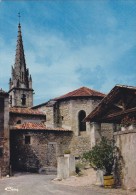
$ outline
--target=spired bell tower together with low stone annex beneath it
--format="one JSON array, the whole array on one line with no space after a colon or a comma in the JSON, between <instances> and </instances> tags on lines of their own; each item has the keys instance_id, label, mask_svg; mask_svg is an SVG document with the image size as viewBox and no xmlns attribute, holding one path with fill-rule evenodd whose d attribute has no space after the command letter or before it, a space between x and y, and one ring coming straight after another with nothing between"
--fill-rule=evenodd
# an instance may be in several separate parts
<instances>
[{"instance_id":1,"label":"spired bell tower together with low stone annex beneath it","mask_svg":"<svg viewBox=\"0 0 136 195\"><path fill-rule=\"evenodd\" d=\"M46 115L32 109L32 77L26 67L21 25L18 25L15 64L9 83L10 164L17 171L55 166L68 148L72 132L45 125Z\"/></svg>"}]
</instances>

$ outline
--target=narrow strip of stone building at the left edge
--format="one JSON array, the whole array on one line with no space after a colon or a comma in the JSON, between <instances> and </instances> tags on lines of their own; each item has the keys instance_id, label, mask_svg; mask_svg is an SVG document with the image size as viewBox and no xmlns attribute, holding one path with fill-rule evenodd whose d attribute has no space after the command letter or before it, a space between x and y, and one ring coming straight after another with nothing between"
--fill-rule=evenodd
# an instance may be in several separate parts
<instances>
[{"instance_id":1,"label":"narrow strip of stone building at the left edge","mask_svg":"<svg viewBox=\"0 0 136 195\"><path fill-rule=\"evenodd\" d=\"M9 95L0 90L0 177L9 174Z\"/></svg>"}]
</instances>

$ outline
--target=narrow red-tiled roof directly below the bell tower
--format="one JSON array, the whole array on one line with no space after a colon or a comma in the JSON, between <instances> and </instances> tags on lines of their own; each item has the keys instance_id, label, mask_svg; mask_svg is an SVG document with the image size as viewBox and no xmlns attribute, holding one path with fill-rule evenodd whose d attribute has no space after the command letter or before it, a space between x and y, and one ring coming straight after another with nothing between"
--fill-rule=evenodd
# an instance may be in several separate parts
<instances>
[{"instance_id":1,"label":"narrow red-tiled roof directly below the bell tower","mask_svg":"<svg viewBox=\"0 0 136 195\"><path fill-rule=\"evenodd\" d=\"M38 110L33 110L31 108L17 108L17 107L10 108L10 113L30 114L30 115L45 115L43 112L40 112Z\"/></svg>"}]
</instances>

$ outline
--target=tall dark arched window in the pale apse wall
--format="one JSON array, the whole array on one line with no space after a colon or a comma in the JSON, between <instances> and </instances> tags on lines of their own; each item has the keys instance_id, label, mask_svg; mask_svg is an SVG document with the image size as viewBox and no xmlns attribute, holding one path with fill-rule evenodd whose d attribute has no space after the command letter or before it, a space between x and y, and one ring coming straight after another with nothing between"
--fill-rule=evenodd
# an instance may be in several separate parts
<instances>
[{"instance_id":1,"label":"tall dark arched window in the pale apse wall","mask_svg":"<svg viewBox=\"0 0 136 195\"><path fill-rule=\"evenodd\" d=\"M85 111L80 110L80 112L78 113L79 131L86 131L86 123L83 122L85 117L86 117Z\"/></svg>"}]
</instances>

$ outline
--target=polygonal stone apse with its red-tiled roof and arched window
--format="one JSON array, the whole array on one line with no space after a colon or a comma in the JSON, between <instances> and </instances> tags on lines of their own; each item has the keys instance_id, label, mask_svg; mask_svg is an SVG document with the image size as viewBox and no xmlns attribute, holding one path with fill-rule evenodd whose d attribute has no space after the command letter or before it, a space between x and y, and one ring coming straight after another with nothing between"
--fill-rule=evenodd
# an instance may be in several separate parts
<instances>
[{"instance_id":1,"label":"polygonal stone apse with its red-tiled roof and arched window","mask_svg":"<svg viewBox=\"0 0 136 195\"><path fill-rule=\"evenodd\" d=\"M104 94L81 87L49 102L37 105L33 109L46 115L46 125L69 129L73 137L68 149L79 156L92 147L92 126L83 119L93 110L104 97Z\"/></svg>"}]
</instances>

